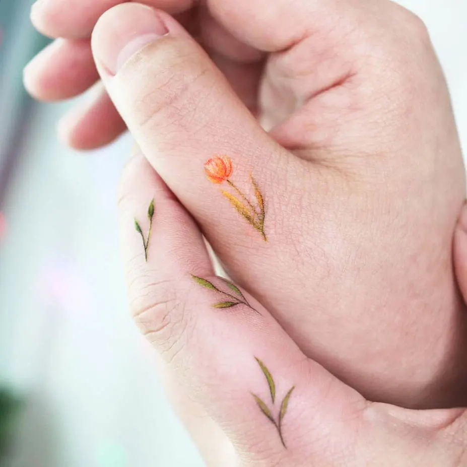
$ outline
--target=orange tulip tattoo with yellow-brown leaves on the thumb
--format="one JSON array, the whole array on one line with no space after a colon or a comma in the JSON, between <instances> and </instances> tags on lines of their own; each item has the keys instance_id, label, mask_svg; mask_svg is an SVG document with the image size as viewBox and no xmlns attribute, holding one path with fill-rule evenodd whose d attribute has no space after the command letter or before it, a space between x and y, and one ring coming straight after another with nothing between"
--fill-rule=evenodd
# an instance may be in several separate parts
<instances>
[{"instance_id":1,"label":"orange tulip tattoo with yellow-brown leaves on the thumb","mask_svg":"<svg viewBox=\"0 0 467 467\"><path fill-rule=\"evenodd\" d=\"M244 194L231 180L230 176L233 172L232 160L227 156L215 156L209 159L205 164L205 171L208 179L213 183L220 184L227 182L231 188L234 189L235 196L229 191L222 190L222 194L229 200L237 212L245 218L258 232L260 232L264 241L267 241L266 234L264 233L264 198L259 191L258 185L250 174L251 184L253 185L254 195L256 197L257 206L250 201L248 196Z\"/></svg>"}]
</instances>

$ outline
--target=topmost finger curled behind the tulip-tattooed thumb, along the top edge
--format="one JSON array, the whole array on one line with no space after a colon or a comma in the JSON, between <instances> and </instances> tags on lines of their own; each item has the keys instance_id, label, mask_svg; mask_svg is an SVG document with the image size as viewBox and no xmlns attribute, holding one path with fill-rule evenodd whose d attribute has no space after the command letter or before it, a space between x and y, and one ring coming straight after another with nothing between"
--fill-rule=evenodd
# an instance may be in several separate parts
<instances>
[{"instance_id":1,"label":"topmost finger curled behind the tulip-tattooed thumb, along the top edge","mask_svg":"<svg viewBox=\"0 0 467 467\"><path fill-rule=\"evenodd\" d=\"M48 36L85 38L90 37L102 14L122 3L125 0L38 0L33 5L31 20ZM197 6L199 0L139 3L177 15ZM285 50L314 32L320 32L320 36L345 36L352 28L351 22L342 21L350 11L348 2L343 0L207 0L206 3L215 20L237 39L264 52ZM381 3L389 2L381 0Z\"/></svg>"}]
</instances>

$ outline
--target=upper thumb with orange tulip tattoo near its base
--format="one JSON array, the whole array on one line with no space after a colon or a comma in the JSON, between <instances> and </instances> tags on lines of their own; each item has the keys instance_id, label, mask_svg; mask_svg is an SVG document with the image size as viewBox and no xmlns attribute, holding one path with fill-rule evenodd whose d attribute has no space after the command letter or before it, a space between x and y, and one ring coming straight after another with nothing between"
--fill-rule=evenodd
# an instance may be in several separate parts
<instances>
[{"instance_id":1,"label":"upper thumb with orange tulip tattoo near its base","mask_svg":"<svg viewBox=\"0 0 467 467\"><path fill-rule=\"evenodd\" d=\"M265 243L257 245L261 238L274 240L272 214L281 199L292 203L291 187L300 186L305 161L266 134L202 47L169 15L134 3L115 7L100 18L92 47L132 136L216 251L229 254L232 244L241 239L248 245L249 238L255 251L264 251ZM232 160L225 176L208 180L205 166L215 155ZM258 192L261 203L254 201ZM302 197L300 190L293 202Z\"/></svg>"}]
</instances>

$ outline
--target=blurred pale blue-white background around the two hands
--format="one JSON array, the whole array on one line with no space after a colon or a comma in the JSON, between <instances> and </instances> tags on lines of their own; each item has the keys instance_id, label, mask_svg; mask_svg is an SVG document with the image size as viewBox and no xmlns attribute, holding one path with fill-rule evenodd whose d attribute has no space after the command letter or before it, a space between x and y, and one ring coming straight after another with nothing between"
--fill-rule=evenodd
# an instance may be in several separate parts
<instances>
[{"instance_id":1,"label":"blurred pale blue-white background around the two hands","mask_svg":"<svg viewBox=\"0 0 467 467\"><path fill-rule=\"evenodd\" d=\"M22 68L47 44L32 0L0 0L0 465L197 467L132 324L116 184L131 143L78 154ZM404 0L428 25L467 147L467 3ZM86 98L86 96L84 97Z\"/></svg>"}]
</instances>

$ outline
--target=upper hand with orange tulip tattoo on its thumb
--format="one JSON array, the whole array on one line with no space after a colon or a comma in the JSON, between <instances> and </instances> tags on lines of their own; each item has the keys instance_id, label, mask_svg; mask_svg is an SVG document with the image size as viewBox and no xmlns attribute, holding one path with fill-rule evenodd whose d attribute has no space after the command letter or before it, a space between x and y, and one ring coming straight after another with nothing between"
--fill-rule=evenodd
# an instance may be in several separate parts
<instances>
[{"instance_id":1,"label":"upper hand with orange tulip tattoo on its thumb","mask_svg":"<svg viewBox=\"0 0 467 467\"><path fill-rule=\"evenodd\" d=\"M41 29L68 37L26 72L34 94L66 97L97 78L89 39L70 37L89 37L114 3L47 0L34 10ZM180 14L210 56L166 13L126 3L97 24L94 58L232 279L367 398L462 404L466 323L451 242L464 168L419 19L383 0L151 4ZM81 132L96 146L121 130L106 99L68 123L70 142Z\"/></svg>"}]
</instances>

